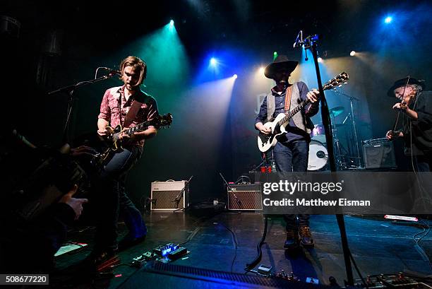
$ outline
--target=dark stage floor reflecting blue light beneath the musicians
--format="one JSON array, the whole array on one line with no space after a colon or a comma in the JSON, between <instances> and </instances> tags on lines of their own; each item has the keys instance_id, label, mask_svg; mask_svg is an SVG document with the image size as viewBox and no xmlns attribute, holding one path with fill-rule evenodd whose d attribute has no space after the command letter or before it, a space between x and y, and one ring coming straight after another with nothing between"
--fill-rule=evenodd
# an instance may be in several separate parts
<instances>
[{"instance_id":1,"label":"dark stage floor reflecting blue light beneath the musicians","mask_svg":"<svg viewBox=\"0 0 432 289\"><path fill-rule=\"evenodd\" d=\"M145 269L145 263L142 268L129 265L133 257L151 251L159 245L187 241L184 247L191 253L172 264L244 275L246 264L256 257L256 246L263 235L264 228L263 215L255 212L224 211L197 216L193 211L186 213L152 211L144 218L148 225L148 237L145 242L119 252L121 264L114 267L113 275L103 275L104 278L99 276L97 281L92 281L93 285L102 282L101 286L107 288L173 288L174 285L176 288L203 288L203 285L205 288L221 288L227 285L227 281L217 281L217 278L209 281L208 278L201 278L198 273L195 273L194 278L180 278L176 273L149 272ZM373 274L400 271L406 274L409 272L431 274L430 264L424 261L414 243L414 235L423 232L424 228L428 230L423 227L427 220L421 224L389 221L383 216L345 216L344 218L349 248L364 278ZM119 223L121 234L125 234L125 230L124 224ZM329 285L329 278L332 276L339 285L343 286L344 279L347 277L335 216L311 216L311 230L316 243L314 249L301 248L293 252L286 251L283 249L285 233L282 217L270 216L268 235L262 247L263 258L259 264L272 266L272 271L275 273L282 270L287 273L293 272L301 282L306 281L306 278L316 278L321 285ZM94 229L91 227L74 228L69 232L70 242L85 242L90 246L56 257L56 268L63 271L60 274L62 280L68 280L67 277L71 276L64 272L67 272L68 268L73 268L74 264L78 264L90 252L93 234ZM416 236L416 240L419 237L421 234ZM419 245L427 255L431 254L430 236L424 237ZM253 275L248 273L247 276ZM88 280L80 283L79 277L73 277L73 281L77 282L76 285L90 284ZM354 278L359 279L355 272ZM56 276L51 276L51 280L59 282ZM52 283L54 284L60 285ZM231 283L231 285L246 286L241 283ZM250 286L253 288L253 285Z\"/></svg>"}]
</instances>

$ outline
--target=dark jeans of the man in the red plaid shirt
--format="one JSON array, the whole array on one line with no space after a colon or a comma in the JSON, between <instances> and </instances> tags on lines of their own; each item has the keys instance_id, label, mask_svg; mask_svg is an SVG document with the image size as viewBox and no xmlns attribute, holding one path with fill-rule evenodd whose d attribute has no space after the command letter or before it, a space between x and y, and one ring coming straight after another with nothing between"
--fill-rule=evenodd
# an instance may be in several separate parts
<instances>
[{"instance_id":1,"label":"dark jeans of the man in the red plaid shirt","mask_svg":"<svg viewBox=\"0 0 432 289\"><path fill-rule=\"evenodd\" d=\"M119 214L131 237L147 234L140 211L126 194L126 176L140 159L143 148L133 146L116 153L105 165L97 185L98 224L95 247L114 249L117 246L117 222Z\"/></svg>"}]
</instances>

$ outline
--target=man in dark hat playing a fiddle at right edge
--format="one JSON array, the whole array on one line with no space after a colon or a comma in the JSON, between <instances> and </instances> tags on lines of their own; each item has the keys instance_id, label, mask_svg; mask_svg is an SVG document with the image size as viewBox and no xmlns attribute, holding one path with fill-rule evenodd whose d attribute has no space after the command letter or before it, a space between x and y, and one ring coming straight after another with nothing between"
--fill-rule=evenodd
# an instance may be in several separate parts
<instances>
[{"instance_id":1,"label":"man in dark hat playing a fiddle at right edge","mask_svg":"<svg viewBox=\"0 0 432 289\"><path fill-rule=\"evenodd\" d=\"M393 110L403 112L402 129L388 131L388 139L404 138L405 155L411 155L412 168L418 172L432 169L432 92L424 91L424 81L402 78L388 90L388 96L400 100Z\"/></svg>"}]
</instances>

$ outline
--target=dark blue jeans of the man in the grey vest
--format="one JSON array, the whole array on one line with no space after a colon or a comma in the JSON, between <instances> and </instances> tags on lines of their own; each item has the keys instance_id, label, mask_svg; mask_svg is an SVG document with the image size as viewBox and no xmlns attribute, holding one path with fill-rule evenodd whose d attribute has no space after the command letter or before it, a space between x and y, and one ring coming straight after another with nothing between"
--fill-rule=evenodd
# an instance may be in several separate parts
<instances>
[{"instance_id":1,"label":"dark blue jeans of the man in the grey vest","mask_svg":"<svg viewBox=\"0 0 432 289\"><path fill-rule=\"evenodd\" d=\"M306 172L308 170L309 143L306 140L276 143L273 158L277 172ZM284 215L287 230L309 226L309 215Z\"/></svg>"}]
</instances>

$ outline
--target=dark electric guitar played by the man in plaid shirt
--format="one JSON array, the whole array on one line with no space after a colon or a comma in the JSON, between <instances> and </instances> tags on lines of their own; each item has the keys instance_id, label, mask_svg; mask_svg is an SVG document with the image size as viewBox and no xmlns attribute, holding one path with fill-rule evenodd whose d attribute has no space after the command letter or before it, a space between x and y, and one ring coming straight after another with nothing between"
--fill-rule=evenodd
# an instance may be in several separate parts
<instances>
[{"instance_id":1,"label":"dark electric guitar played by the man in plaid shirt","mask_svg":"<svg viewBox=\"0 0 432 289\"><path fill-rule=\"evenodd\" d=\"M100 158L105 160L107 159L108 155L123 151L121 139L119 138L121 134L131 135L136 131L144 131L148 128L148 126L155 126L157 129L162 129L166 126L170 126L171 124L172 114L168 113L164 115L157 115L157 117L154 119L150 119L147 122L142 122L136 126L132 126L125 131L122 131L123 128L121 127L121 124L118 124L114 129L111 126L107 126L108 134L107 136L104 136L104 141L107 144L108 149L104 153L101 153Z\"/></svg>"}]
</instances>

